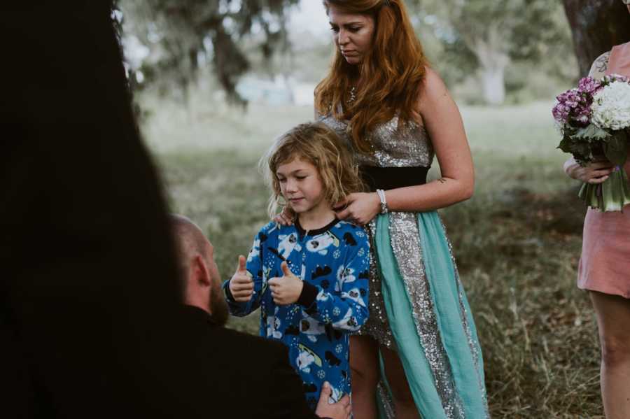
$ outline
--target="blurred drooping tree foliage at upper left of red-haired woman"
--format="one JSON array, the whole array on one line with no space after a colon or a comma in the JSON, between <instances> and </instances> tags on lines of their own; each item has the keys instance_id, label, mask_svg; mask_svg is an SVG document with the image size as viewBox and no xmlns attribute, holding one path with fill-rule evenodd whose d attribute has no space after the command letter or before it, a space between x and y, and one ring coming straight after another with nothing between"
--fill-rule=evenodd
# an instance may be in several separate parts
<instances>
[{"instance_id":1,"label":"blurred drooping tree foliage at upper left of red-haired woman","mask_svg":"<svg viewBox=\"0 0 630 419\"><path fill-rule=\"evenodd\" d=\"M299 0L118 0L127 40L148 48L139 67L149 83L174 80L186 94L200 67L213 66L235 103L237 80L250 67L241 41L250 36L267 59L288 48L286 13Z\"/></svg>"}]
</instances>

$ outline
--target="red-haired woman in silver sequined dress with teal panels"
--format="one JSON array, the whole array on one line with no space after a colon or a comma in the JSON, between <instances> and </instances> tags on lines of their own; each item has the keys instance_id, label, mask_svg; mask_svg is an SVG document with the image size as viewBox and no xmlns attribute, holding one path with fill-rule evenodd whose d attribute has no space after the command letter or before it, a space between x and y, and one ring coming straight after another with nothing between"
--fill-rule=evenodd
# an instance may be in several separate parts
<instances>
[{"instance_id":1,"label":"red-haired woman in silver sequined dress with teal panels","mask_svg":"<svg viewBox=\"0 0 630 419\"><path fill-rule=\"evenodd\" d=\"M370 318L351 338L354 416L487 418L475 322L435 212L472 195L461 115L402 0L323 3L335 58L316 114L349 143L371 190L337 207L373 245ZM441 177L427 183L434 155Z\"/></svg>"}]
</instances>

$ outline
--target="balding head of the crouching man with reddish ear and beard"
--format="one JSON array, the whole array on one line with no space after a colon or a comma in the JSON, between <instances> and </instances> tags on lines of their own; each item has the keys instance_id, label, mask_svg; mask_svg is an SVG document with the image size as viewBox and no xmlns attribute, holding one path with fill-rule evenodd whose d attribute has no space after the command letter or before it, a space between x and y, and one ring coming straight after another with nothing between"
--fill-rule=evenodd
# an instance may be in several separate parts
<instances>
[{"instance_id":1,"label":"balding head of the crouching man with reddish ear and beard","mask_svg":"<svg viewBox=\"0 0 630 419\"><path fill-rule=\"evenodd\" d=\"M210 313L214 322L225 325L228 305L221 290L214 248L201 229L182 215L171 215L179 248L183 302Z\"/></svg>"}]
</instances>

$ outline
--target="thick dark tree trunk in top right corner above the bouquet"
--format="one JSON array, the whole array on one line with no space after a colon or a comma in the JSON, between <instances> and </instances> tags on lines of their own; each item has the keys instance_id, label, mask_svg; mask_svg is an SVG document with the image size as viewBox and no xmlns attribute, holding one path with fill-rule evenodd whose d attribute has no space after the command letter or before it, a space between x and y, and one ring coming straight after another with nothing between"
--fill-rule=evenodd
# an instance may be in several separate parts
<instances>
[{"instance_id":1,"label":"thick dark tree trunk in top right corner above the bouquet","mask_svg":"<svg viewBox=\"0 0 630 419\"><path fill-rule=\"evenodd\" d=\"M580 75L586 76L594 59L630 41L630 13L619 0L562 0L573 33Z\"/></svg>"}]
</instances>

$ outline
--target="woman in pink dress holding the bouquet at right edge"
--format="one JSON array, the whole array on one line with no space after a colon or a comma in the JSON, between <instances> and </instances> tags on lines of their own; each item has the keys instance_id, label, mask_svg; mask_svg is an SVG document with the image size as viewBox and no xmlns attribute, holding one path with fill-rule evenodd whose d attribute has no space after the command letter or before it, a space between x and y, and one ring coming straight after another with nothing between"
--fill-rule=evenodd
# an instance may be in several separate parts
<instances>
[{"instance_id":1,"label":"woman in pink dress holding the bouquet at right edge","mask_svg":"<svg viewBox=\"0 0 630 419\"><path fill-rule=\"evenodd\" d=\"M630 11L630 0L622 0ZM595 60L589 76L630 76L630 42ZM607 160L564 164L571 178L601 184L615 170ZM622 168L630 173L630 159ZM624 211L589 208L584 220L577 286L589 290L601 343L601 392L606 418L630 418L630 206Z\"/></svg>"}]
</instances>

